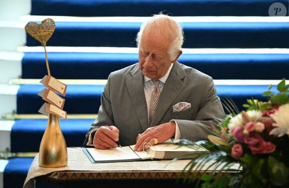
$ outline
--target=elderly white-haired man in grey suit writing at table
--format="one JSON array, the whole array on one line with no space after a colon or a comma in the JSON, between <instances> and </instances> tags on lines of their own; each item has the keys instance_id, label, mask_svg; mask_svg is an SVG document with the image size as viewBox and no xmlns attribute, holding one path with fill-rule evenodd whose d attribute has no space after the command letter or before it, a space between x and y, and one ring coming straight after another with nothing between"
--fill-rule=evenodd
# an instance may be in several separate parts
<instances>
[{"instance_id":1,"label":"elderly white-haired man in grey suit writing at table","mask_svg":"<svg viewBox=\"0 0 289 188\"><path fill-rule=\"evenodd\" d=\"M139 63L110 74L85 147L136 144L142 151L169 138L205 140L224 110L213 79L177 59L183 31L172 17L153 15L137 35ZM138 137L138 139L137 139Z\"/></svg>"}]
</instances>

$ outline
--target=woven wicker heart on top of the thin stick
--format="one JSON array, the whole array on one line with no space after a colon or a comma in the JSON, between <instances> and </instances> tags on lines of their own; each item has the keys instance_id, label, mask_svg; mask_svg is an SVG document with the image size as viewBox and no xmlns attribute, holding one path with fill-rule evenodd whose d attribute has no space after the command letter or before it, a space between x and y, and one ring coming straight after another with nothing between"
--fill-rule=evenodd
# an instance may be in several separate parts
<instances>
[{"instance_id":1,"label":"woven wicker heart on top of the thin stick","mask_svg":"<svg viewBox=\"0 0 289 188\"><path fill-rule=\"evenodd\" d=\"M53 19L47 18L41 21L40 24L36 22L28 22L25 25L25 31L41 42L42 46L46 46L46 42L52 36L55 30L55 22Z\"/></svg>"}]
</instances>

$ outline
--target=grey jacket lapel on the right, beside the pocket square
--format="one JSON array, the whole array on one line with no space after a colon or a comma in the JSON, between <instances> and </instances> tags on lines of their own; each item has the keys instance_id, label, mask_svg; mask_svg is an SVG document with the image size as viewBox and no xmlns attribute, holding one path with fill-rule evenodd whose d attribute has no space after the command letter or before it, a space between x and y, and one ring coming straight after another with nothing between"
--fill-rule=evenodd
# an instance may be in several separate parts
<instances>
[{"instance_id":1,"label":"grey jacket lapel on the right, beside the pocket square","mask_svg":"<svg viewBox=\"0 0 289 188\"><path fill-rule=\"evenodd\" d=\"M166 80L163 90L158 99L158 105L155 108L155 114L151 122L151 126L158 125L163 115L171 106L176 96L184 89L182 79L186 76L180 64L176 62Z\"/></svg>"}]
</instances>

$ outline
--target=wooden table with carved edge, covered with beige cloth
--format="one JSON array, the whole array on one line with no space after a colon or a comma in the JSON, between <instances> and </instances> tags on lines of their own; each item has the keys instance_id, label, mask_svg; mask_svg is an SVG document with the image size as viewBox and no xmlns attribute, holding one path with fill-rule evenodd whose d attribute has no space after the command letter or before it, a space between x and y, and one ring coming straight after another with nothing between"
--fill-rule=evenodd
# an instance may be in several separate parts
<instances>
[{"instance_id":1,"label":"wooden table with carved edge, covered with beige cloth","mask_svg":"<svg viewBox=\"0 0 289 188\"><path fill-rule=\"evenodd\" d=\"M67 148L68 165L61 168L38 166L38 155L29 169L24 188L36 181L64 188L192 188L180 180L190 160L148 160L137 162L91 163L82 148Z\"/></svg>"}]
</instances>

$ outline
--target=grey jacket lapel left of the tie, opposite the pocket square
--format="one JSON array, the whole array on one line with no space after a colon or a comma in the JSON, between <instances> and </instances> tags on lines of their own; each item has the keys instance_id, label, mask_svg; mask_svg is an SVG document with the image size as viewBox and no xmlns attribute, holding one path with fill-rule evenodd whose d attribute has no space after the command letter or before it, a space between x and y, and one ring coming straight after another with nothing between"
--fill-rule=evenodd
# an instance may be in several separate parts
<instances>
[{"instance_id":1,"label":"grey jacket lapel left of the tie, opposite the pocket square","mask_svg":"<svg viewBox=\"0 0 289 188\"><path fill-rule=\"evenodd\" d=\"M131 96L133 106L137 112L138 119L143 128L143 131L147 128L147 107L144 96L144 82L143 73L139 71L138 67L136 70L131 71L132 77L127 80L128 92Z\"/></svg>"}]
</instances>

